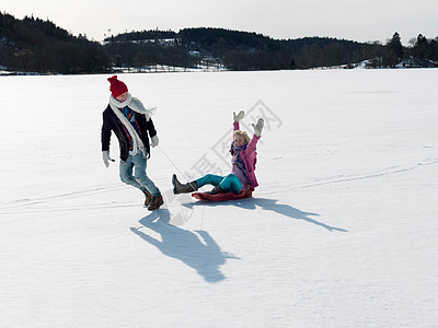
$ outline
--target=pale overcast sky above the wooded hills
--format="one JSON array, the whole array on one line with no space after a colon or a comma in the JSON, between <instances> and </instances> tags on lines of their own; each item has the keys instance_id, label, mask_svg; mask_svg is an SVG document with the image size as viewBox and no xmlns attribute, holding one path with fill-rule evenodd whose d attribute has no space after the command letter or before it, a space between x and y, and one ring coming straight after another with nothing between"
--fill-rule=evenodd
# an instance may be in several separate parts
<instances>
[{"instance_id":1,"label":"pale overcast sky above the wooded hills","mask_svg":"<svg viewBox=\"0 0 438 328\"><path fill-rule=\"evenodd\" d=\"M131 31L200 26L273 38L328 36L382 43L399 32L404 45L419 33L438 36L437 0L2 0L0 10L16 19L48 19L95 40Z\"/></svg>"}]
</instances>

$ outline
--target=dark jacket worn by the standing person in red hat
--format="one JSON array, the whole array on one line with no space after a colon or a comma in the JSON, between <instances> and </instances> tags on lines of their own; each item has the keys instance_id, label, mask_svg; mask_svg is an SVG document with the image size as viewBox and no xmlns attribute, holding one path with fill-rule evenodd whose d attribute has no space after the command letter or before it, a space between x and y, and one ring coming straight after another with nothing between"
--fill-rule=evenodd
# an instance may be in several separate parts
<instances>
[{"instance_id":1,"label":"dark jacket worn by the standing person in red hat","mask_svg":"<svg viewBox=\"0 0 438 328\"><path fill-rule=\"evenodd\" d=\"M157 134L155 127L153 126L152 119L147 120L143 114L136 113L136 121L140 127L139 137L145 144L146 150L148 151L148 157L150 156L150 145L149 145L149 137L152 138ZM102 151L110 151L110 141L112 131L116 134L118 139L118 144L120 148L120 160L126 161L129 155L129 140L128 136L126 136L125 130L123 129L123 124L113 112L111 106L108 105L106 109L103 112L103 125L101 131L101 142L102 142ZM149 133L149 137L148 137Z\"/></svg>"}]
</instances>

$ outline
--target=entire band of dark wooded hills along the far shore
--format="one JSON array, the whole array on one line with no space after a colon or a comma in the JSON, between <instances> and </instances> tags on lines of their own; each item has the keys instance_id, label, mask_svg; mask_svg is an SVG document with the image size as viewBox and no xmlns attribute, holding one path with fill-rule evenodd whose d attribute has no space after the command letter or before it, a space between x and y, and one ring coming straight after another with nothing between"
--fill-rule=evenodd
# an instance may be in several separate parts
<instances>
[{"instance_id":1,"label":"entire band of dark wooded hills along the far shore","mask_svg":"<svg viewBox=\"0 0 438 328\"><path fill-rule=\"evenodd\" d=\"M97 73L157 65L229 70L290 70L345 66L369 60L370 68L437 67L438 37L422 34L403 47L399 33L387 44L328 37L273 39L224 28L141 31L108 36L103 43L71 35L46 20L16 20L0 13L0 66L38 73Z\"/></svg>"}]
</instances>

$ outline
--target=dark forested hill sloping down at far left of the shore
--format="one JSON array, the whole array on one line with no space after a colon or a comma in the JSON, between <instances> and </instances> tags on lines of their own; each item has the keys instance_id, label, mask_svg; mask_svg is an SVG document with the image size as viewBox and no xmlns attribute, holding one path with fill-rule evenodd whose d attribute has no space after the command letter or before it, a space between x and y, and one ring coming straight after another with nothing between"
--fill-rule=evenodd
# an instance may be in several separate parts
<instances>
[{"instance_id":1,"label":"dark forested hill sloping down at far left of the shore","mask_svg":"<svg viewBox=\"0 0 438 328\"><path fill-rule=\"evenodd\" d=\"M74 37L50 21L0 13L0 66L39 73L94 73L111 67L101 44Z\"/></svg>"}]
</instances>

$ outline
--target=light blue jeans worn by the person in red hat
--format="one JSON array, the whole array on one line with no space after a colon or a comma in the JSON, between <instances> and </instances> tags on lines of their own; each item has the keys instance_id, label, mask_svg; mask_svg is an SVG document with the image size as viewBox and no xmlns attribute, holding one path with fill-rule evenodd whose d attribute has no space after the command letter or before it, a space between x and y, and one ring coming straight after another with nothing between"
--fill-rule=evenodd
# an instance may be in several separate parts
<instances>
[{"instance_id":1,"label":"light blue jeans worn by the person in red hat","mask_svg":"<svg viewBox=\"0 0 438 328\"><path fill-rule=\"evenodd\" d=\"M141 191L148 190L152 196L159 196L160 190L153 181L146 175L147 160L141 152L136 155L129 155L126 162L120 160L120 179L125 184L140 189ZM134 176L132 176L132 169Z\"/></svg>"}]
</instances>

